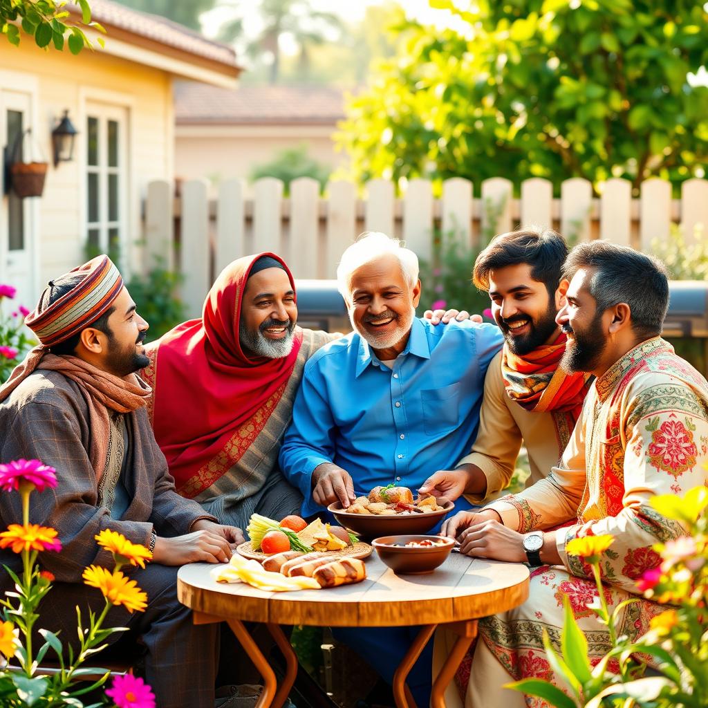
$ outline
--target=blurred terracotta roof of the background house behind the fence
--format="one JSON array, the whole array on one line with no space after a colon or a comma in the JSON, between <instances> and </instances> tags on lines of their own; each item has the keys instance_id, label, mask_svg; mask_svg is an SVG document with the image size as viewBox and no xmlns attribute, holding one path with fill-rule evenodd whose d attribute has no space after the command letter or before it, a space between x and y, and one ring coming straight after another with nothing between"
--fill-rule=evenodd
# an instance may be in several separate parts
<instances>
[{"instance_id":1,"label":"blurred terracotta roof of the background house behind the fence","mask_svg":"<svg viewBox=\"0 0 708 708\"><path fill-rule=\"evenodd\" d=\"M178 125L333 125L344 118L344 96L332 86L244 86L219 89L177 81Z\"/></svg>"}]
</instances>

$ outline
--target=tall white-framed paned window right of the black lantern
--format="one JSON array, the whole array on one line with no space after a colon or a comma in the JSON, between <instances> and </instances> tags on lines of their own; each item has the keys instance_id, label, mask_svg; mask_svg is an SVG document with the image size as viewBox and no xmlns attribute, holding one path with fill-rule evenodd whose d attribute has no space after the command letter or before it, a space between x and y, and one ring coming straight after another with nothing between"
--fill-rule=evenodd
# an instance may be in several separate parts
<instances>
[{"instance_id":1,"label":"tall white-framed paned window right of the black lantern","mask_svg":"<svg viewBox=\"0 0 708 708\"><path fill-rule=\"evenodd\" d=\"M127 263L127 110L86 103L86 241L93 256Z\"/></svg>"}]
</instances>

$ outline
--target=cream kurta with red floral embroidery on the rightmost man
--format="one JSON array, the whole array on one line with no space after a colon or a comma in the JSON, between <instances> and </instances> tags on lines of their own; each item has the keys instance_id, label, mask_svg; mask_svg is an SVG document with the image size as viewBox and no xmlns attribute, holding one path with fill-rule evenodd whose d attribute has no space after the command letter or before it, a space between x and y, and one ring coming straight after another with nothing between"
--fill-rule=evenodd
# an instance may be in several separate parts
<instances>
[{"instance_id":1,"label":"cream kurta with red floral embroidery on the rightmost man","mask_svg":"<svg viewBox=\"0 0 708 708\"><path fill-rule=\"evenodd\" d=\"M553 678L542 634L546 629L559 648L564 595L588 638L590 660L599 661L609 638L587 608L597 594L595 583L585 579L593 577L592 571L566 554L566 543L586 535L615 537L600 561L611 612L629 593L637 593L637 578L658 565L652 545L683 534L677 523L649 506L649 498L708 484L707 461L708 384L666 341L657 337L641 343L595 381L559 467L522 493L490 505L505 525L520 532L559 527L556 544L563 566L532 571L524 605L480 622L485 646L480 641L472 661L467 705L514 703L513 693L501 687L506 681L495 685L490 680L489 651L505 669L506 680ZM644 634L660 611L649 600L629 605L622 633ZM458 673L463 682L464 673L463 664ZM542 702L529 697L527 704Z\"/></svg>"}]
</instances>

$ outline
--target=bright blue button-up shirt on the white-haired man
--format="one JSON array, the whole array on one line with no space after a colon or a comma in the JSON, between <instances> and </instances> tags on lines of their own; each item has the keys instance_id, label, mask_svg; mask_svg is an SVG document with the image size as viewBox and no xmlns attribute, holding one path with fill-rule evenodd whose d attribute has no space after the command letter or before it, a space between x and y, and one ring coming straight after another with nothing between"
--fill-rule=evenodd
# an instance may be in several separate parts
<instances>
[{"instance_id":1,"label":"bright blue button-up shirt on the white-haired man","mask_svg":"<svg viewBox=\"0 0 708 708\"><path fill-rule=\"evenodd\" d=\"M304 367L280 448L302 514L321 511L312 472L323 462L346 469L357 496L391 482L415 490L454 468L476 437L484 375L501 344L491 324L414 318L393 369L355 332L321 348Z\"/></svg>"}]
</instances>

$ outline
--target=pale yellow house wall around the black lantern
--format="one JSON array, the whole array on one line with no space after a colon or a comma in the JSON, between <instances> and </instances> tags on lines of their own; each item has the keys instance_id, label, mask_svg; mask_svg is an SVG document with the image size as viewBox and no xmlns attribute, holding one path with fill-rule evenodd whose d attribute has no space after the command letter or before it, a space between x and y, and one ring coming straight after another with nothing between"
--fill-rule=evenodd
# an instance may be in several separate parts
<instances>
[{"instance_id":1,"label":"pale yellow house wall around the black lantern","mask_svg":"<svg viewBox=\"0 0 708 708\"><path fill-rule=\"evenodd\" d=\"M24 38L20 47L0 40L0 76L8 71L38 79L35 140L50 161L45 190L38 198L38 276L35 290L59 273L84 261L86 238L86 102L122 105L128 114L126 198L127 256L123 265L138 268L140 198L147 183L173 177L174 133L171 76L159 69L84 50L44 52ZM50 132L69 110L80 135L74 160L52 164ZM6 229L0 229L6 238ZM3 249L4 250L4 249ZM1 275L0 265L0 275Z\"/></svg>"}]
</instances>

